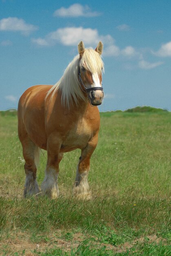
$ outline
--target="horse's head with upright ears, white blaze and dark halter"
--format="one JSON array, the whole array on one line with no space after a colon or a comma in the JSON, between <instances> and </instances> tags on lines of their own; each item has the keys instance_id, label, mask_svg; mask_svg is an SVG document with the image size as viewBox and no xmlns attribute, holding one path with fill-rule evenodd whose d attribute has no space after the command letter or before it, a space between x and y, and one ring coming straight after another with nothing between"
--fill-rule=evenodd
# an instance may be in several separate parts
<instances>
[{"instance_id":1,"label":"horse's head with upright ears, white blaze and dark halter","mask_svg":"<svg viewBox=\"0 0 171 256\"><path fill-rule=\"evenodd\" d=\"M102 104L104 92L102 88L102 68L103 62L101 54L103 50L102 42L93 49L85 49L81 41L78 45L80 60L78 64L78 77L82 90L87 92L91 105Z\"/></svg>"}]
</instances>

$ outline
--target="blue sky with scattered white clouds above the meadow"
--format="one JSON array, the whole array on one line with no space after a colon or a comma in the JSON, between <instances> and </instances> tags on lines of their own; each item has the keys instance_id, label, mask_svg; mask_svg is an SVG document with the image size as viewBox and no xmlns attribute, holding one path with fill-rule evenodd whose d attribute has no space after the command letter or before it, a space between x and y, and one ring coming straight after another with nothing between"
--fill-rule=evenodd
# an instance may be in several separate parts
<instances>
[{"instance_id":1,"label":"blue sky with scattered white clouds above the meadow","mask_svg":"<svg viewBox=\"0 0 171 256\"><path fill-rule=\"evenodd\" d=\"M0 0L0 110L32 85L55 84L78 43L104 44L100 111L171 111L170 0Z\"/></svg>"}]
</instances>

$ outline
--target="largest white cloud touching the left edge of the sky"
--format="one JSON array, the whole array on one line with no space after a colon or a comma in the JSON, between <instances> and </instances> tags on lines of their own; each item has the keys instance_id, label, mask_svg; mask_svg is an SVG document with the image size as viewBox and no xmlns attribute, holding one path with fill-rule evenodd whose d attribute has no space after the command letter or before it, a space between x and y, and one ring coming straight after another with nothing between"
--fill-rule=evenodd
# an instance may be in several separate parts
<instances>
[{"instance_id":1,"label":"largest white cloud touching the left edge of the sky","mask_svg":"<svg viewBox=\"0 0 171 256\"><path fill-rule=\"evenodd\" d=\"M29 35L32 31L37 29L37 26L27 24L25 20L16 17L0 20L0 31L20 31L24 35Z\"/></svg>"}]
</instances>

